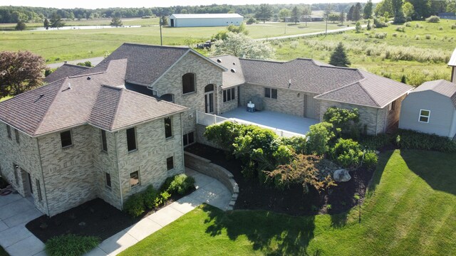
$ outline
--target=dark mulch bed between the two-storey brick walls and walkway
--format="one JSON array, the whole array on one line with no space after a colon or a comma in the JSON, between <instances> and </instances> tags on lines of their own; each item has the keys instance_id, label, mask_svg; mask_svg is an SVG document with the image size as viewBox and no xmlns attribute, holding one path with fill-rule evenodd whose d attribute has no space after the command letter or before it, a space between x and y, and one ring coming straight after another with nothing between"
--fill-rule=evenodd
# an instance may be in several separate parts
<instances>
[{"instance_id":1,"label":"dark mulch bed between the two-storey brick walls and walkway","mask_svg":"<svg viewBox=\"0 0 456 256\"><path fill-rule=\"evenodd\" d=\"M182 197L181 195L172 195L167 203L160 208ZM106 203L103 199L96 198L51 218L42 215L27 223L26 228L42 242L46 242L54 236L65 234L92 235L105 240L137 223L142 218L155 213L160 208L146 211L138 218L132 218L127 213Z\"/></svg>"}]
</instances>

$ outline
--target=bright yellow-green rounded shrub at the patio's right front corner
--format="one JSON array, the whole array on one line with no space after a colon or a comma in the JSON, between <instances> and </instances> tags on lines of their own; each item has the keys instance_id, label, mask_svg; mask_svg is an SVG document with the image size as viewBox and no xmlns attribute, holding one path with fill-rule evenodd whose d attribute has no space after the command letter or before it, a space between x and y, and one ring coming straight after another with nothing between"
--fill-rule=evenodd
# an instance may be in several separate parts
<instances>
[{"instance_id":1,"label":"bright yellow-green rounded shrub at the patio's right front corner","mask_svg":"<svg viewBox=\"0 0 456 256\"><path fill-rule=\"evenodd\" d=\"M317 155L326 154L329 150L328 142L335 137L333 124L329 122L321 122L311 125L306 136L309 138L307 141L309 152Z\"/></svg>"}]
</instances>

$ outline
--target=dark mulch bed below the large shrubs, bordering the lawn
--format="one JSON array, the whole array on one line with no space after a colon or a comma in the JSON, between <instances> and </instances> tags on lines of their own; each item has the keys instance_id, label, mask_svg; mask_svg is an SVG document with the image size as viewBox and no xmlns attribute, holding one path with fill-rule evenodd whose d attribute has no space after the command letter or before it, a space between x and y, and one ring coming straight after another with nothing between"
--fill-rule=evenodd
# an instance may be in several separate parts
<instances>
[{"instance_id":1,"label":"dark mulch bed below the large shrubs, bordering the lawn","mask_svg":"<svg viewBox=\"0 0 456 256\"><path fill-rule=\"evenodd\" d=\"M242 164L238 159L227 159L224 151L211 146L193 144L185 148L185 151L209 159L233 174L239 185L239 196L234 209L272 210L289 215L343 213L358 205L355 194L360 196L360 201L363 200L373 175L373 171L361 168L350 172L352 178L348 182L338 183L336 187L321 193L311 188L309 193L304 194L301 186L280 190L266 187L258 179L244 178L241 174Z\"/></svg>"}]
</instances>

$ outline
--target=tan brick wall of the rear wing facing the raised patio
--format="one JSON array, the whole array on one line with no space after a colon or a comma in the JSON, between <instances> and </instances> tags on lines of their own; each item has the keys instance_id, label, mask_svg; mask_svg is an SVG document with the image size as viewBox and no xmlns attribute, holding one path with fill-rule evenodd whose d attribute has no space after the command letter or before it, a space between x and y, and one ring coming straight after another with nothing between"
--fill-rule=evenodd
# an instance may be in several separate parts
<instances>
[{"instance_id":1,"label":"tan brick wall of the rear wing facing the raised patio","mask_svg":"<svg viewBox=\"0 0 456 256\"><path fill-rule=\"evenodd\" d=\"M298 117L304 117L304 95L307 95L307 117L318 119L320 106L317 100L314 100L316 94L310 92L300 92L277 88L277 99L264 97L264 88L267 86L244 84L241 87L241 105L247 107L247 103L254 96L259 96L263 100L264 110L292 114Z\"/></svg>"}]
</instances>

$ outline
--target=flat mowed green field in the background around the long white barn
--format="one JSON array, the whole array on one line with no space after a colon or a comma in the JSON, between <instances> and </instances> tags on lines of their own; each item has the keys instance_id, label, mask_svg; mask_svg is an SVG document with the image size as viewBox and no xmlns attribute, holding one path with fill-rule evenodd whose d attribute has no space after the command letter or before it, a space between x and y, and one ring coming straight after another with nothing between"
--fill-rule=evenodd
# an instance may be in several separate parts
<instances>
[{"instance_id":1,"label":"flat mowed green field in the background around the long white barn","mask_svg":"<svg viewBox=\"0 0 456 256\"><path fill-rule=\"evenodd\" d=\"M110 20L72 21L68 25L108 25ZM61 31L0 31L0 50L31 50L42 55L46 63L78 60L106 55L122 43L147 43L160 45L160 27L157 18L137 18L123 21L125 25L141 28L103 28ZM11 26L11 24L9 24ZM328 29L339 28L329 24ZM163 44L167 46L192 46L202 43L225 27L170 28L163 27ZM323 31L325 23L258 23L248 25L249 36L266 38Z\"/></svg>"}]
</instances>

